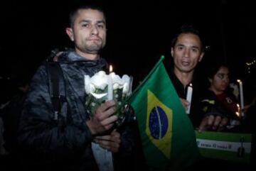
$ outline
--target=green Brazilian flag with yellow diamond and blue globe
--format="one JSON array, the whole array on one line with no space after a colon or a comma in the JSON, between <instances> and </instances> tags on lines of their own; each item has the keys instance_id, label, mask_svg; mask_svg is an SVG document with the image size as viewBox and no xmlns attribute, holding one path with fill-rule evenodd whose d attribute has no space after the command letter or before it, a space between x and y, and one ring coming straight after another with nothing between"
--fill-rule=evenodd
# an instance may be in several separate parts
<instances>
[{"instance_id":1,"label":"green Brazilian flag with yellow diamond and blue globe","mask_svg":"<svg viewBox=\"0 0 256 171\"><path fill-rule=\"evenodd\" d=\"M150 170L182 170L199 150L191 121L164 67L164 56L129 98Z\"/></svg>"}]
</instances>

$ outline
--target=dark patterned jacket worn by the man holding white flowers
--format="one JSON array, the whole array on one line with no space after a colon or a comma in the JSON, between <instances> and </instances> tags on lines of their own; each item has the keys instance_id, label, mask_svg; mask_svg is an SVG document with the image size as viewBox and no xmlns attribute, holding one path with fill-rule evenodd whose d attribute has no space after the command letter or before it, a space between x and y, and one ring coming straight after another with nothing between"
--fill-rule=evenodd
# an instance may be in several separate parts
<instances>
[{"instance_id":1,"label":"dark patterned jacket worn by the man holding white flowers","mask_svg":"<svg viewBox=\"0 0 256 171\"><path fill-rule=\"evenodd\" d=\"M85 124L89 118L85 110L84 75L94 75L105 68L102 58L86 60L73 50L60 57L66 88L67 109L62 109L64 121L54 119L46 66L38 68L31 82L18 131L19 158L36 170L97 170L92 155L92 135ZM130 164L134 149L134 134L127 123L122 128L122 146L117 154ZM115 159L114 159L115 160ZM126 165L124 165L126 167ZM29 169L29 168L26 168Z\"/></svg>"}]
</instances>

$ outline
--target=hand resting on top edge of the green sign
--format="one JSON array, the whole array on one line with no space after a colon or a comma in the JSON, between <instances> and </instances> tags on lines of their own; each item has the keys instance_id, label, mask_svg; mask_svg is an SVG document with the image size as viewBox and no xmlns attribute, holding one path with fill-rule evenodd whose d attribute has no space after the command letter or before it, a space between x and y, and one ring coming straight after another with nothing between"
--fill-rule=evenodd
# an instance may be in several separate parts
<instances>
[{"instance_id":1,"label":"hand resting on top edge of the green sign","mask_svg":"<svg viewBox=\"0 0 256 171\"><path fill-rule=\"evenodd\" d=\"M199 131L223 131L228 124L228 118L221 118L221 116L209 115L203 118L200 123Z\"/></svg>"}]
</instances>

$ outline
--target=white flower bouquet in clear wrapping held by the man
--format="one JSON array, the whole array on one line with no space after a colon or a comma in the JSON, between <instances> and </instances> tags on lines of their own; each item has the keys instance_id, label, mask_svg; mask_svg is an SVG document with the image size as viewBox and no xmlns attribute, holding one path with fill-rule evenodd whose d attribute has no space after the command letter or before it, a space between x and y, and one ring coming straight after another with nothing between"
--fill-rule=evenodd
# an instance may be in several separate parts
<instances>
[{"instance_id":1,"label":"white flower bouquet in clear wrapping held by the man","mask_svg":"<svg viewBox=\"0 0 256 171\"><path fill-rule=\"evenodd\" d=\"M124 101L132 94L132 77L123 75L121 78L114 72L107 75L104 71L97 72L92 77L85 75L85 92L85 105L91 117L104 101L113 99L117 104L117 111L114 113L118 116L116 123L120 126L125 118Z\"/></svg>"}]
</instances>

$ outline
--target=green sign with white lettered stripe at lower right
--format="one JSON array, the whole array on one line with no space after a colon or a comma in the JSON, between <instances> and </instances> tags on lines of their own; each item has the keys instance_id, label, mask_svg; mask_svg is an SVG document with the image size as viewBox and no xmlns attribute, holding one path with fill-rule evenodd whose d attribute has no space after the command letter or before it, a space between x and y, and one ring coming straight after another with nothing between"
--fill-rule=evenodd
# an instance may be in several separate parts
<instances>
[{"instance_id":1,"label":"green sign with white lettered stripe at lower right","mask_svg":"<svg viewBox=\"0 0 256 171\"><path fill-rule=\"evenodd\" d=\"M203 157L250 163L250 133L196 131L196 142Z\"/></svg>"}]
</instances>

